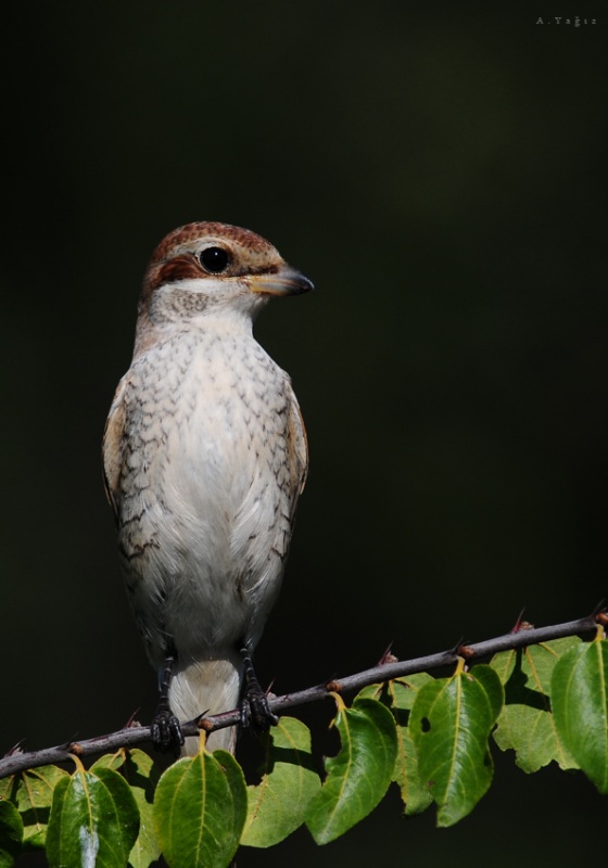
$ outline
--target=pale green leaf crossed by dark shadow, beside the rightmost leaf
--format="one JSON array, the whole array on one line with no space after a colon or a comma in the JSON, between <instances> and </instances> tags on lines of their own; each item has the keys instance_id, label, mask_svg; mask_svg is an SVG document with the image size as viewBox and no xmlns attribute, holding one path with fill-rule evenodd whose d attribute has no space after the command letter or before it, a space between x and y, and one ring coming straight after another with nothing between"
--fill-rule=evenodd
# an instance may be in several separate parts
<instances>
[{"instance_id":1,"label":"pale green leaf crossed by dark shadow, beside the rightmost leaf","mask_svg":"<svg viewBox=\"0 0 608 868\"><path fill-rule=\"evenodd\" d=\"M580 644L569 636L525 649L496 654L491 666L505 686L505 707L494 740L503 751L514 750L523 771L537 771L555 760L560 768L578 768L557 735L550 705L550 679L560 655Z\"/></svg>"}]
</instances>

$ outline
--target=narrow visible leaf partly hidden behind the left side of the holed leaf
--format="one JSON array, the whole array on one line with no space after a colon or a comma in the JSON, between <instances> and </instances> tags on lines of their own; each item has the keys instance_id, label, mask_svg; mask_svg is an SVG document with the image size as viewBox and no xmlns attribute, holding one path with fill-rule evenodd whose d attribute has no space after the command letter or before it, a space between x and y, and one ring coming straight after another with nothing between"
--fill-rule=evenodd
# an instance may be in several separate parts
<instances>
[{"instance_id":1,"label":"narrow visible leaf partly hidden behind the left side of the holed leaf","mask_svg":"<svg viewBox=\"0 0 608 868\"><path fill-rule=\"evenodd\" d=\"M397 755L393 780L398 784L401 797L405 805L404 814L411 817L421 814L432 804L433 797L429 788L423 786L418 774L418 755L409 732L409 713L414 700L422 685L432 681L427 673L417 673L364 688L358 697L369 697L383 702L392 712L397 727Z\"/></svg>"}]
</instances>

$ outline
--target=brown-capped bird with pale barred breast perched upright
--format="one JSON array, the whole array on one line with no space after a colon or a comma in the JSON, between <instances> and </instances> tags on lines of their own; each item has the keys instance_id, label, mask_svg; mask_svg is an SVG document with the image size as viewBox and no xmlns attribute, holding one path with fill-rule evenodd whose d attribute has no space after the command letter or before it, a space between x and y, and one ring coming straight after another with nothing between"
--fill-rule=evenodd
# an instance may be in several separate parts
<instances>
[{"instance_id":1,"label":"brown-capped bird with pale barred breast perched upright","mask_svg":"<svg viewBox=\"0 0 608 868\"><path fill-rule=\"evenodd\" d=\"M180 724L241 709L277 722L252 656L277 598L308 469L290 376L253 335L273 297L313 283L264 238L223 222L169 232L139 297L130 367L103 436L127 595L160 699L152 738L191 755ZM235 752L235 727L206 748Z\"/></svg>"}]
</instances>

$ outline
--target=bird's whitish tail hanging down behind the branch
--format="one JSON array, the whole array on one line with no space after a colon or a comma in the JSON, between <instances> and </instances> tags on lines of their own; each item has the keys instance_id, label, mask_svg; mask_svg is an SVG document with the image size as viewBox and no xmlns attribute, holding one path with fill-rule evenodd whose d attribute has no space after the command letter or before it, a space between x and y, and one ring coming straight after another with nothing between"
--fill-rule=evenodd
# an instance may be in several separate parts
<instances>
[{"instance_id":1,"label":"bird's whitish tail hanging down behind the branch","mask_svg":"<svg viewBox=\"0 0 608 868\"><path fill-rule=\"evenodd\" d=\"M192 720L202 714L219 714L239 704L242 682L240 655L220 660L199 660L174 672L169 704L179 720ZM218 748L235 753L237 727L218 729L207 736L210 751ZM199 750L199 739L190 737L181 749L182 756L193 756Z\"/></svg>"}]
</instances>

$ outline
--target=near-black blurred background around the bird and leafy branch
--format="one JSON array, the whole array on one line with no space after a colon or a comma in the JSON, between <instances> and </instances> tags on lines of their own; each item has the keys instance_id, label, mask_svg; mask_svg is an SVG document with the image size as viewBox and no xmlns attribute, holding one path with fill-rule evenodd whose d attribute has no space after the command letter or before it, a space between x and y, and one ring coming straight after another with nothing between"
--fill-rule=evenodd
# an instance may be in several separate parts
<instances>
[{"instance_id":1,"label":"near-black blurred background around the bird and leafy branch","mask_svg":"<svg viewBox=\"0 0 608 868\"><path fill-rule=\"evenodd\" d=\"M606 598L600 10L38 5L4 37L0 751L152 713L100 441L147 259L190 220L259 232L317 286L256 328L311 442L263 680ZM327 713L306 713L320 744ZM599 842L581 775L496 752L495 778L454 829L393 794L334 844L300 831L239 868L570 866Z\"/></svg>"}]
</instances>

